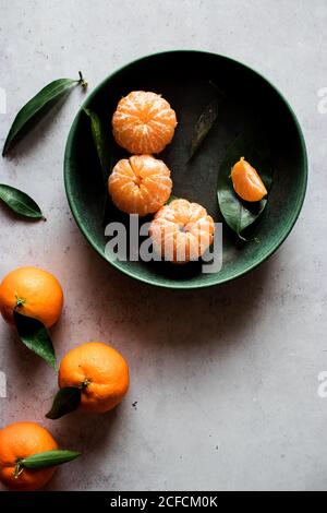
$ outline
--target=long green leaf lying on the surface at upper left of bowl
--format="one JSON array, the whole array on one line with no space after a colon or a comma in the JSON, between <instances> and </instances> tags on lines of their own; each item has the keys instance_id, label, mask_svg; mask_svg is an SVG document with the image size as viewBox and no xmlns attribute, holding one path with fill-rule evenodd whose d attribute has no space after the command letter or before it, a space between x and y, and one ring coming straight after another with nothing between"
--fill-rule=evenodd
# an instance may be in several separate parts
<instances>
[{"instance_id":1,"label":"long green leaf lying on the surface at upper left of bowl","mask_svg":"<svg viewBox=\"0 0 327 513\"><path fill-rule=\"evenodd\" d=\"M49 111L55 103L66 93L73 84L83 83L80 80L59 79L40 90L16 115L11 126L9 134L5 139L2 150L4 156L9 150L28 131L32 126L36 124L41 117Z\"/></svg>"}]
</instances>

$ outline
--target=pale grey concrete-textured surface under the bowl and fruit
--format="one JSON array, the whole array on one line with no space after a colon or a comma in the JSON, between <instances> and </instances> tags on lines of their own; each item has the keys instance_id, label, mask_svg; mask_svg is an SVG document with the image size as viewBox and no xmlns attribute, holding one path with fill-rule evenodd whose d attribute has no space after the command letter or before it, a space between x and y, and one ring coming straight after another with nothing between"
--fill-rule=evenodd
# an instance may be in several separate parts
<instances>
[{"instance_id":1,"label":"pale grey concrete-textured surface under the bowl and fruit","mask_svg":"<svg viewBox=\"0 0 327 513\"><path fill-rule=\"evenodd\" d=\"M51 80L82 69L92 91L143 55L193 48L267 76L294 108L310 156L299 222L261 269L219 288L149 288L95 254L72 219L62 162L84 97L74 91L0 162L0 181L33 195L48 218L31 224L0 207L0 275L26 264L53 272L65 293L58 356L112 343L130 362L131 389L108 415L45 420L56 375L1 322L1 426L41 421L62 446L84 451L47 490L326 489L326 1L0 0L0 12L1 144Z\"/></svg>"}]
</instances>

